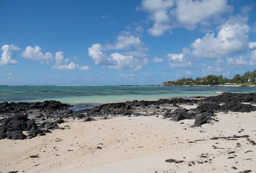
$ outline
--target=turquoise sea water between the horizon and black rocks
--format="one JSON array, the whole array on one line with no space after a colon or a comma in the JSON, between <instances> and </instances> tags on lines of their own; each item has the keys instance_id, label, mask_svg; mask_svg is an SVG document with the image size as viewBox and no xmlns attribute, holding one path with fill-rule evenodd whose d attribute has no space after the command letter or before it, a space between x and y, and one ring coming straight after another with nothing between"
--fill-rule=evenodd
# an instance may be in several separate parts
<instances>
[{"instance_id":1,"label":"turquoise sea water between the horizon and black rocks","mask_svg":"<svg viewBox=\"0 0 256 173\"><path fill-rule=\"evenodd\" d=\"M99 105L132 100L212 96L216 91L256 93L256 87L220 86L0 86L0 102L42 102Z\"/></svg>"}]
</instances>

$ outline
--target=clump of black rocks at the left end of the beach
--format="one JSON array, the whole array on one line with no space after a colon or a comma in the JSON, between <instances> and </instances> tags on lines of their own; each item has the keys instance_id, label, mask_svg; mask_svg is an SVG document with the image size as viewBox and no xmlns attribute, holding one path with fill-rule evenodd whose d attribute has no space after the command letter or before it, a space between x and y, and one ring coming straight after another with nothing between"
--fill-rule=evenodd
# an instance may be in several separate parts
<instances>
[{"instance_id":1,"label":"clump of black rocks at the left end of the beach","mask_svg":"<svg viewBox=\"0 0 256 173\"><path fill-rule=\"evenodd\" d=\"M49 129L59 128L56 113L72 107L54 100L45 102L3 102L0 103L0 139L30 139L37 135L51 133ZM29 118L28 115L34 116ZM63 121L64 122L64 121ZM63 123L62 122L62 123ZM25 135L23 132L26 132Z\"/></svg>"}]
</instances>

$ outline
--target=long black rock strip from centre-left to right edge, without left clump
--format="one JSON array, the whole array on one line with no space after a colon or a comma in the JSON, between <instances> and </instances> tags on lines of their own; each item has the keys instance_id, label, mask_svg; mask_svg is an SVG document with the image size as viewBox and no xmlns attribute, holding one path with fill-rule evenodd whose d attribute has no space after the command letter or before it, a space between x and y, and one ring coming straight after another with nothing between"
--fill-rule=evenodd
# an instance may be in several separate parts
<instances>
[{"instance_id":1,"label":"long black rock strip from centre-left to right edge, without left clump","mask_svg":"<svg viewBox=\"0 0 256 173\"><path fill-rule=\"evenodd\" d=\"M173 121L195 119L193 126L218 121L216 112L252 112L256 107L243 102L256 103L256 93L223 93L218 96L189 98L160 99L157 101L138 101L108 103L79 111L68 110L61 117L84 119L95 116L150 116L162 115ZM179 109L179 105L198 104L196 109Z\"/></svg>"}]
</instances>

